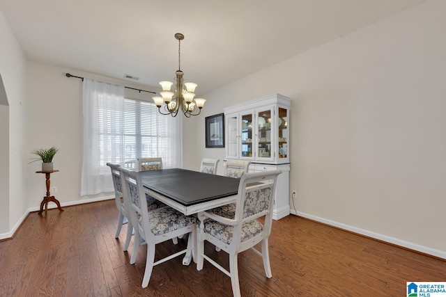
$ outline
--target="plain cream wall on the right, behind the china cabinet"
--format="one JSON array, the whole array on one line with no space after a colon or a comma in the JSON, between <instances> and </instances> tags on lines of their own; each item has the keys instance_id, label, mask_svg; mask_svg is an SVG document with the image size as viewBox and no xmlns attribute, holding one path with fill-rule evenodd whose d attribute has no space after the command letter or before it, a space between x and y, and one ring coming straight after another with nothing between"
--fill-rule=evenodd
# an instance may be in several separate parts
<instances>
[{"instance_id":1,"label":"plain cream wall on the right, behind the china cabinet","mask_svg":"<svg viewBox=\"0 0 446 297\"><path fill-rule=\"evenodd\" d=\"M445 11L426 1L215 90L204 110L291 97L291 207L446 258ZM201 119L187 125L187 166L224 159Z\"/></svg>"}]
</instances>

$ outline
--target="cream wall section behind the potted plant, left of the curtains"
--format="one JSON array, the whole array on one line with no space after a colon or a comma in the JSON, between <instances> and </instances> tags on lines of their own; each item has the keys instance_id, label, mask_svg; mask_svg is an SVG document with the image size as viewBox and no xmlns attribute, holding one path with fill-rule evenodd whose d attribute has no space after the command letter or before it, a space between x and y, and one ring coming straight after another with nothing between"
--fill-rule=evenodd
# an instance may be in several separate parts
<instances>
[{"instance_id":1,"label":"cream wall section behind the potted plant, left of the curtains","mask_svg":"<svg viewBox=\"0 0 446 297\"><path fill-rule=\"evenodd\" d=\"M28 63L29 117L28 151L26 158L36 158L30 152L40 147L59 147L54 156L51 175L52 193L59 202L80 200L82 167L82 80L68 79L61 68ZM27 191L28 207L39 207L46 192L45 175L36 174L42 163L29 163ZM49 204L54 206L55 204Z\"/></svg>"}]
</instances>

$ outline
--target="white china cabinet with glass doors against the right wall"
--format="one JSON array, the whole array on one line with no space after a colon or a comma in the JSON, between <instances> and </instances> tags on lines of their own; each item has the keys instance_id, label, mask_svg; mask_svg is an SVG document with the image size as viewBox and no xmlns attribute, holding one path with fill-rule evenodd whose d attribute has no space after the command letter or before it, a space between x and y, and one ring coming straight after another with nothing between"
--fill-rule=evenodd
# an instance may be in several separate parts
<instances>
[{"instance_id":1,"label":"white china cabinet with glass doors against the right wall","mask_svg":"<svg viewBox=\"0 0 446 297\"><path fill-rule=\"evenodd\" d=\"M226 159L251 161L250 172L282 170L277 179L273 218L289 207L290 99L275 94L224 109Z\"/></svg>"}]
</instances>

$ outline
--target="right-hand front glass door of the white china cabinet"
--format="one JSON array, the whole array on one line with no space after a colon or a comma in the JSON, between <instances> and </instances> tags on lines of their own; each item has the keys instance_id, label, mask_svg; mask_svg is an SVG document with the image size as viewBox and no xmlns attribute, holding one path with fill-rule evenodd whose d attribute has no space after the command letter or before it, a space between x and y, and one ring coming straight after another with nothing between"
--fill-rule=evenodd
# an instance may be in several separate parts
<instances>
[{"instance_id":1,"label":"right-hand front glass door of the white china cabinet","mask_svg":"<svg viewBox=\"0 0 446 297\"><path fill-rule=\"evenodd\" d=\"M259 160L271 159L274 147L271 145L271 121L272 110L265 109L257 112L257 154L256 158Z\"/></svg>"}]
</instances>

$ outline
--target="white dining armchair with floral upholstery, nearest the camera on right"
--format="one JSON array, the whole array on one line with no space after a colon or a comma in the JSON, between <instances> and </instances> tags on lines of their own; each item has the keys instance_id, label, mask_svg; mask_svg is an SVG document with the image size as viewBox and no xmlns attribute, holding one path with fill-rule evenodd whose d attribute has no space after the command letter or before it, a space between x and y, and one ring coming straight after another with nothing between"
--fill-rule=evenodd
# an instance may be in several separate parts
<instances>
[{"instance_id":1,"label":"white dining armchair with floral upholstery, nearest the camera on right","mask_svg":"<svg viewBox=\"0 0 446 297\"><path fill-rule=\"evenodd\" d=\"M238 186L234 218L218 216L213 211L200 212L197 245L197 270L203 269L206 259L231 278L233 296L240 296L238 254L248 249L263 257L267 278L272 277L268 236L272 225L272 203L280 170L247 173ZM258 218L264 216L263 224ZM209 241L229 254L229 271L204 253L204 241ZM254 246L261 242L261 252Z\"/></svg>"}]
</instances>

